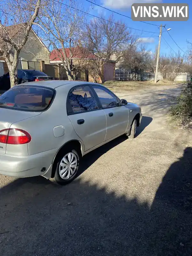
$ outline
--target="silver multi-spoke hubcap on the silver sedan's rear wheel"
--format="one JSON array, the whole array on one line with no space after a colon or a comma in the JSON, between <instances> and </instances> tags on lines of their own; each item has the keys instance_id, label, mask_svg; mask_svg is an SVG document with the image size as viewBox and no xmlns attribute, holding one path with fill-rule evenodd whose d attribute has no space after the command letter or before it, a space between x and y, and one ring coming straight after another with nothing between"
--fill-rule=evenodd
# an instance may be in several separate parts
<instances>
[{"instance_id":1,"label":"silver multi-spoke hubcap on the silver sedan's rear wheel","mask_svg":"<svg viewBox=\"0 0 192 256\"><path fill-rule=\"evenodd\" d=\"M59 165L60 177L64 180L69 179L76 171L77 156L70 152L67 153L61 160Z\"/></svg>"}]
</instances>

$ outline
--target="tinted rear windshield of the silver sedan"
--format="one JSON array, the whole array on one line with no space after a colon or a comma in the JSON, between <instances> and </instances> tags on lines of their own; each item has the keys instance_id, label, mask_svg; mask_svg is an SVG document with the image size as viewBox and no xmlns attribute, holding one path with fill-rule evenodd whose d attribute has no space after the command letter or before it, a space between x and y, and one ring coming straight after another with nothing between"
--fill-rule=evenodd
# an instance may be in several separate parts
<instances>
[{"instance_id":1,"label":"tinted rear windshield of the silver sedan","mask_svg":"<svg viewBox=\"0 0 192 256\"><path fill-rule=\"evenodd\" d=\"M55 90L41 86L16 85L0 96L0 108L44 111L52 103Z\"/></svg>"}]
</instances>

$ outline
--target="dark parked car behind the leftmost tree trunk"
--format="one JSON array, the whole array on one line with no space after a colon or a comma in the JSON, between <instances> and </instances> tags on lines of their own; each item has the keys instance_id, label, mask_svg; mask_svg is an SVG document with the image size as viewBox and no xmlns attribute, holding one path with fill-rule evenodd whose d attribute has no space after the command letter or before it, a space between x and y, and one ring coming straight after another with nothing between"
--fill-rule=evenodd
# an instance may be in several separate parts
<instances>
[{"instance_id":1,"label":"dark parked car behind the leftmost tree trunk","mask_svg":"<svg viewBox=\"0 0 192 256\"><path fill-rule=\"evenodd\" d=\"M18 69L18 84L42 80L54 80L54 77L47 76L45 73L39 70ZM0 90L7 91L10 89L10 87L9 73L0 76Z\"/></svg>"}]
</instances>

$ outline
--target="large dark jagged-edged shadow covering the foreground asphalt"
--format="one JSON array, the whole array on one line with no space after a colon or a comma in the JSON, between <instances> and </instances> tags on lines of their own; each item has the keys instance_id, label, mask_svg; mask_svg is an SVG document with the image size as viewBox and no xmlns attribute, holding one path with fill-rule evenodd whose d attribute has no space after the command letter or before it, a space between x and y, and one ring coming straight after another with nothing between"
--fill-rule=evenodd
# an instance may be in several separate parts
<instances>
[{"instance_id":1,"label":"large dark jagged-edged shadow covering the foreground asphalt","mask_svg":"<svg viewBox=\"0 0 192 256\"><path fill-rule=\"evenodd\" d=\"M191 168L186 148L151 207L81 177L15 180L0 189L0 255L192 255Z\"/></svg>"}]
</instances>

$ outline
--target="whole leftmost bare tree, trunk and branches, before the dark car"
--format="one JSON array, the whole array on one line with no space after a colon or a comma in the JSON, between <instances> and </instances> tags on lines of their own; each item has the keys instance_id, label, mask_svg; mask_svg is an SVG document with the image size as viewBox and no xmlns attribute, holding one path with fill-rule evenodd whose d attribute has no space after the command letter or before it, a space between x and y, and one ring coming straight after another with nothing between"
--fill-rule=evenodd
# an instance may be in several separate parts
<instances>
[{"instance_id":1,"label":"whole leftmost bare tree, trunk and branches, before the dark car","mask_svg":"<svg viewBox=\"0 0 192 256\"><path fill-rule=\"evenodd\" d=\"M11 87L17 85L19 54L28 40L41 0L3 0L0 3L0 56L5 59Z\"/></svg>"}]
</instances>

